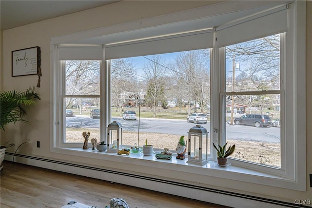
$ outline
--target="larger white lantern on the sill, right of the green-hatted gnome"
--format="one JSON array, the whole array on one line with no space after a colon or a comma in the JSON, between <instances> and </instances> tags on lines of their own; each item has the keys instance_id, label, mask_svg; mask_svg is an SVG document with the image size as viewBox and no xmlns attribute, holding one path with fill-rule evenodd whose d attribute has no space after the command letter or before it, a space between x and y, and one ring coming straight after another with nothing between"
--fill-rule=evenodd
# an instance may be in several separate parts
<instances>
[{"instance_id":1,"label":"larger white lantern on the sill, right of the green-hatted gnome","mask_svg":"<svg viewBox=\"0 0 312 208\"><path fill-rule=\"evenodd\" d=\"M204 143L204 149L203 149ZM205 165L208 163L208 132L201 125L196 125L189 130L188 163Z\"/></svg>"}]
</instances>

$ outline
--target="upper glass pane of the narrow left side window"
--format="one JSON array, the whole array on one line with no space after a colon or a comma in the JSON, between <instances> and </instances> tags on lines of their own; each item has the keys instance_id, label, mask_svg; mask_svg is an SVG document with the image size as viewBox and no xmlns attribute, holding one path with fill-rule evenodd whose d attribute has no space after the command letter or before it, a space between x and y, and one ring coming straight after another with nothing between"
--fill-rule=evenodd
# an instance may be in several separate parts
<instances>
[{"instance_id":1,"label":"upper glass pane of the narrow left side window","mask_svg":"<svg viewBox=\"0 0 312 208\"><path fill-rule=\"evenodd\" d=\"M66 61L66 95L99 95L99 61Z\"/></svg>"}]
</instances>

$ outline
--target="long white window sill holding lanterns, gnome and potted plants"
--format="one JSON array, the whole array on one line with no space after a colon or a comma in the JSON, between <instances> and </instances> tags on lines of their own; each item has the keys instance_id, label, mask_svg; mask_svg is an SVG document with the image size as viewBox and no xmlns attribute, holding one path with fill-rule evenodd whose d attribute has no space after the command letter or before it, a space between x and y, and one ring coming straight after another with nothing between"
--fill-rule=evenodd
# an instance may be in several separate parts
<instances>
[{"instance_id":1,"label":"long white window sill holding lanterns, gnome and potted plants","mask_svg":"<svg viewBox=\"0 0 312 208\"><path fill-rule=\"evenodd\" d=\"M217 178L226 178L234 181L242 181L254 184L267 185L272 187L284 187L294 190L302 190L302 186L291 179L251 170L240 166L218 166L215 161L209 161L207 164L200 166L187 163L185 160L176 159L175 156L171 160L156 159L155 154L152 156L143 156L142 153L131 153L130 155L117 155L116 153L100 152L98 150L82 148L58 147L52 150L55 153L74 155L92 159L100 159L114 161L117 163L126 163L128 165L146 166L151 168L162 168L167 170L191 173L195 175L212 176ZM209 171L207 171L207 169Z\"/></svg>"}]
</instances>

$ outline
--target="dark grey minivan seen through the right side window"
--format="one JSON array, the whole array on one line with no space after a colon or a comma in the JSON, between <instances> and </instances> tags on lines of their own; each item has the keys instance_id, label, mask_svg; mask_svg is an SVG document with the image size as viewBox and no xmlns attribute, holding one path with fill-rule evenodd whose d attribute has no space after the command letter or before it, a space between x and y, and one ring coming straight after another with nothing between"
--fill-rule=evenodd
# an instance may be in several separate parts
<instances>
[{"instance_id":1,"label":"dark grey minivan seen through the right side window","mask_svg":"<svg viewBox=\"0 0 312 208\"><path fill-rule=\"evenodd\" d=\"M239 118L234 119L236 125L254 125L255 127L260 126L271 126L272 120L268 115L261 114L246 114Z\"/></svg>"}]
</instances>

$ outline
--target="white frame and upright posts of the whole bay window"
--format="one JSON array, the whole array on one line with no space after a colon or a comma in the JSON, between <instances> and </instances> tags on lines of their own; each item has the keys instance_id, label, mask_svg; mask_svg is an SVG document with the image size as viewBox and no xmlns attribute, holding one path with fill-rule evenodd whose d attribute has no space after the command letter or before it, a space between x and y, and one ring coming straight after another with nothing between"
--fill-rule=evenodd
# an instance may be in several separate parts
<instances>
[{"instance_id":1,"label":"white frame and upright posts of the whole bay window","mask_svg":"<svg viewBox=\"0 0 312 208\"><path fill-rule=\"evenodd\" d=\"M168 24L171 20L175 21L187 21L192 20L194 18L205 17L209 14L208 11L211 11L211 14L222 14L227 11L236 11L234 8L245 8L255 4L258 5L259 2L250 3L249 6L244 5L244 2L241 2L241 7L237 7L237 3L240 2L228 2L222 5L215 6L207 6L204 8L198 8L191 11L180 12L168 15L166 17L156 17L147 20L140 20L136 22L130 22L120 25L115 25L111 27L105 27L98 30L87 31L76 33L72 35L65 35L61 37L55 37L51 39L51 89L53 92L51 93L51 151L55 153L69 154L69 155L77 155L88 158L97 158L106 160L107 158L111 159L111 155L107 155L103 157L101 154L91 153L91 152L82 152L80 149L68 149L63 148L59 144L60 140L60 127L59 121L62 118L60 115L61 109L59 106L60 99L60 66L59 66L59 51L58 45L61 45L64 42L68 42L71 44L75 41L83 41L86 37L93 38L98 36L99 33L103 35L113 35L115 33L122 33L126 31L141 29L142 27L152 27L156 25ZM269 2L262 2L263 4L269 4ZM224 7L226 6L226 7ZM285 140L284 149L285 152L282 151L281 157L285 157L284 163L280 170L272 171L273 168L266 169L263 166L254 166L254 164L247 164L243 162L242 164L236 163L233 161L233 169L231 171L227 171L223 169L220 171L219 169L215 171L215 168L207 165L206 168L210 168L211 171L205 171L205 168L194 170L192 166L187 166L184 168L185 172L194 173L194 174L204 174L206 176L213 177L221 177L227 178L231 180L244 181L256 184L263 184L267 186L274 187L285 187L295 190L306 190L306 117L305 117L305 109L306 109L306 99L305 99L305 2L304 1L294 1L289 4L289 25L292 25L291 30L287 32L287 37L285 39L285 62L284 65L286 67L286 71L292 72L290 74L284 74L284 82L286 82L285 87L285 96L284 103L291 104L290 107L285 106L283 109L285 111L285 120L287 118L293 117L293 122L286 123L284 126L284 135L291 135L290 140ZM243 10L243 9L241 9ZM196 15L195 15L196 14ZM196 17L195 17L195 16ZM81 42L79 42L81 43ZM79 47L77 47L79 50ZM211 84L214 86L214 89L211 92L211 140L214 141L215 138L221 140L223 138L223 124L224 124L224 115L223 115L223 106L221 105L222 96L220 93L222 92L222 70L220 68L224 67L222 57L222 48L218 49L214 47L213 58L211 59L212 67L211 67ZM102 56L102 69L106 71L106 73L101 74L102 83L101 90L104 88L108 89L101 93L101 106L103 110L101 110L101 116L103 118L103 123L101 124L101 135L106 135L106 128L108 119L110 118L109 111L109 101L110 101L110 81L109 81L109 71L106 70L105 63L105 48L103 49ZM104 87L105 86L105 87ZM105 110L104 110L105 109ZM104 119L105 118L105 119ZM104 133L104 134L103 134ZM213 153L214 154L214 153ZM120 157L115 157L116 162L122 161ZM124 159L124 158L123 158ZM287 164L285 163L287 161ZM138 164L137 158L129 158L129 164ZM140 163L143 166L153 167L155 163L153 161L142 161ZM164 168L173 169L171 164L164 163ZM285 166L285 168L284 168Z\"/></svg>"}]
</instances>

